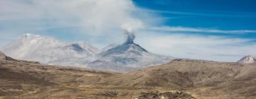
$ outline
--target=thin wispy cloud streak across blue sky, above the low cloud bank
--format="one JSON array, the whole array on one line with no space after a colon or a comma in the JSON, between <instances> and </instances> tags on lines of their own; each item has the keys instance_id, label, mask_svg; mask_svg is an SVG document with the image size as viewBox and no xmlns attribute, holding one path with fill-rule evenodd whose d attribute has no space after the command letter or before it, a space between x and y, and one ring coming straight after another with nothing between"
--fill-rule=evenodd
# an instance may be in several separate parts
<instances>
[{"instance_id":1,"label":"thin wispy cloud streak across blue sky, above the low cloud bank","mask_svg":"<svg viewBox=\"0 0 256 99\"><path fill-rule=\"evenodd\" d=\"M164 31L164 32L187 32L187 33L227 33L227 34L244 34L244 33L256 33L256 30L218 30L208 28L187 28L187 27L153 27L149 30Z\"/></svg>"}]
</instances>

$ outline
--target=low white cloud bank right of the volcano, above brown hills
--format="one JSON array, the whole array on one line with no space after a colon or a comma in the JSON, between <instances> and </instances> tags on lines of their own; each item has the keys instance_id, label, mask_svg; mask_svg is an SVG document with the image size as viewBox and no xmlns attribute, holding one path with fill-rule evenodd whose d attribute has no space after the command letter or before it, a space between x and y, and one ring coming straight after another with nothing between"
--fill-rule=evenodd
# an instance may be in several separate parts
<instances>
[{"instance_id":1,"label":"low white cloud bank right of the volcano, above brown hills","mask_svg":"<svg viewBox=\"0 0 256 99\"><path fill-rule=\"evenodd\" d=\"M251 54L256 56L255 40L217 36L168 33L138 33L136 43L150 52L173 57L235 62Z\"/></svg>"}]
</instances>

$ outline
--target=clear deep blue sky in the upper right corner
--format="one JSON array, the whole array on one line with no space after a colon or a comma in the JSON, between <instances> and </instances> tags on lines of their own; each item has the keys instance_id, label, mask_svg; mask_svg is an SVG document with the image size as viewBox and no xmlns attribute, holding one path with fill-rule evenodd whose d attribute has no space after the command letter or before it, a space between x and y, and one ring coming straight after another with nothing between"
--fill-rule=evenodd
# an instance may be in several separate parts
<instances>
[{"instance_id":1,"label":"clear deep blue sky in the upper right corner","mask_svg":"<svg viewBox=\"0 0 256 99\"><path fill-rule=\"evenodd\" d=\"M256 28L254 0L134 0L134 2L137 6L155 11L166 18L162 25L221 30L255 30ZM245 33L230 37L255 38L256 34Z\"/></svg>"}]
</instances>

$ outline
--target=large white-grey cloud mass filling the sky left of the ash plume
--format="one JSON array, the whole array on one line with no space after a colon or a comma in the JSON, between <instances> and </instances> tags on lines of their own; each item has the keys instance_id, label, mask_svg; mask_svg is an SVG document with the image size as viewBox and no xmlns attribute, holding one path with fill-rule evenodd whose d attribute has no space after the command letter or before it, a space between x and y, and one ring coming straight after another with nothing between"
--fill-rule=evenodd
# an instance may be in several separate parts
<instances>
[{"instance_id":1,"label":"large white-grey cloud mass filling the sky left of the ash plume","mask_svg":"<svg viewBox=\"0 0 256 99\"><path fill-rule=\"evenodd\" d=\"M37 33L48 28L76 27L92 43L120 42L123 24L144 25L149 15L131 0L0 0L0 33ZM138 16L138 17L137 17ZM148 18L150 16L147 16ZM6 23L6 24L4 24ZM16 24L17 23L17 24ZM140 26L138 26L140 27ZM63 34L64 35L64 34ZM18 36L18 35L17 35ZM114 40L113 40L114 39ZM97 42L96 42L97 41Z\"/></svg>"}]
</instances>

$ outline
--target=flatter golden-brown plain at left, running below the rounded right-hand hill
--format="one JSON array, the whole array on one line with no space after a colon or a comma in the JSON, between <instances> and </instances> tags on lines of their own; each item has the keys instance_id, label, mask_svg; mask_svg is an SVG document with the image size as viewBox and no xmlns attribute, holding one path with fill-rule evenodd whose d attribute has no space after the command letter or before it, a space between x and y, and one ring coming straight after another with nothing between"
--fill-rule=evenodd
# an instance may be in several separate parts
<instances>
[{"instance_id":1,"label":"flatter golden-brown plain at left, running below the rounded right-hand hill","mask_svg":"<svg viewBox=\"0 0 256 99\"><path fill-rule=\"evenodd\" d=\"M118 75L120 73L21 61L0 53L0 98L193 98L182 91L95 84Z\"/></svg>"}]
</instances>

